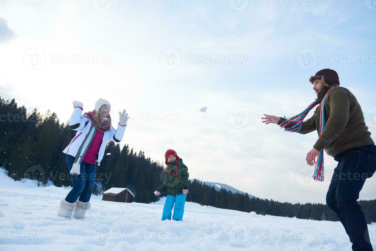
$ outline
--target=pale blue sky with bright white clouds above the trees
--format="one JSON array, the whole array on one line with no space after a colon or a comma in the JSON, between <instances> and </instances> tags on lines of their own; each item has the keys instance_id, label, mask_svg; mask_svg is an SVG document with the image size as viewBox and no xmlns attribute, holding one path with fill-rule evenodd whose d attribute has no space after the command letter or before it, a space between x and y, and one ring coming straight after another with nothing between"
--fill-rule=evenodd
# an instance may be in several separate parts
<instances>
[{"instance_id":1,"label":"pale blue sky with bright white clouds above the trees","mask_svg":"<svg viewBox=\"0 0 376 251\"><path fill-rule=\"evenodd\" d=\"M324 203L337 162L325 154L326 181L312 182L317 133L261 117L303 111L309 76L332 68L376 141L371 1L0 0L0 96L61 122L73 100L104 98L116 123L131 115L121 146L159 161L172 148L191 178L260 198ZM360 198L375 189L373 177Z\"/></svg>"}]
</instances>

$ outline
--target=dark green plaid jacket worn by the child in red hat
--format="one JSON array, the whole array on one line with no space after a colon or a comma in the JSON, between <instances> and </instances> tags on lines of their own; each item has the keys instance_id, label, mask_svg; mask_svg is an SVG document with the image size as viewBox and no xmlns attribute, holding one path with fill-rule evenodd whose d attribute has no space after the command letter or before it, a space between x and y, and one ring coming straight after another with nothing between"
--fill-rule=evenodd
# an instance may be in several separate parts
<instances>
[{"instance_id":1,"label":"dark green plaid jacket worn by the child in red hat","mask_svg":"<svg viewBox=\"0 0 376 251\"><path fill-rule=\"evenodd\" d=\"M174 162L168 162L167 168L170 173L176 174L176 166ZM175 177L165 170L164 183L160 186L157 191L163 193L167 191L168 195L179 195L183 193L183 189L188 189L188 167L183 164L183 160L177 161L178 176ZM189 193L189 190L188 190Z\"/></svg>"}]
</instances>

